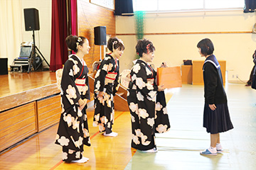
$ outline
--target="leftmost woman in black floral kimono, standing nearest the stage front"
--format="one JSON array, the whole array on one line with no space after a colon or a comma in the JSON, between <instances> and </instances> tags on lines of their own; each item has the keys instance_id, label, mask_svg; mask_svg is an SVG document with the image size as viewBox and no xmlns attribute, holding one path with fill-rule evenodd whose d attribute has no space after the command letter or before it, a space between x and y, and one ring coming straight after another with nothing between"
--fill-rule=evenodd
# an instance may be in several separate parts
<instances>
[{"instance_id":1,"label":"leftmost woman in black floral kimono, standing nearest the stage front","mask_svg":"<svg viewBox=\"0 0 256 170\"><path fill-rule=\"evenodd\" d=\"M84 163L83 146L90 146L86 103L90 99L88 68L82 57L89 53L84 37L69 35L65 42L75 55L70 55L63 67L60 84L62 113L55 144L63 147L63 161Z\"/></svg>"}]
</instances>

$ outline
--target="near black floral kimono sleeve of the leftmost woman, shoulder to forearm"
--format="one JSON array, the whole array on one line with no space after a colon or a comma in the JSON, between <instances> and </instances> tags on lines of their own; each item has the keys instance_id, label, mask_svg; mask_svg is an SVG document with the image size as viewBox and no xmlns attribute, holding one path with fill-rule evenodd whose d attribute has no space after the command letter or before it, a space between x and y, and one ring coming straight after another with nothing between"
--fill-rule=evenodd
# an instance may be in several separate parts
<instances>
[{"instance_id":1,"label":"near black floral kimono sleeve of the leftmost woman, shoulder to forearm","mask_svg":"<svg viewBox=\"0 0 256 170\"><path fill-rule=\"evenodd\" d=\"M78 87L75 85L74 68L77 67L73 61L65 62L60 87L63 94L68 98L71 105L78 103L81 98Z\"/></svg>"}]
</instances>

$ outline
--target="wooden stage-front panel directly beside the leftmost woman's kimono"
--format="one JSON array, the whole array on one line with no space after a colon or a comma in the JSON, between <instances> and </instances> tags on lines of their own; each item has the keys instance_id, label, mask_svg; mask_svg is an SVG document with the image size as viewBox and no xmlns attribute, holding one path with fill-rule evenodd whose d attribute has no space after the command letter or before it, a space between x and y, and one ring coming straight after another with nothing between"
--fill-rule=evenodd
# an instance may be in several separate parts
<instances>
[{"instance_id":1,"label":"wooden stage-front panel directly beside the leftmost woman's kimono","mask_svg":"<svg viewBox=\"0 0 256 170\"><path fill-rule=\"evenodd\" d=\"M60 95L37 101L38 132L55 125L60 120Z\"/></svg>"}]
</instances>

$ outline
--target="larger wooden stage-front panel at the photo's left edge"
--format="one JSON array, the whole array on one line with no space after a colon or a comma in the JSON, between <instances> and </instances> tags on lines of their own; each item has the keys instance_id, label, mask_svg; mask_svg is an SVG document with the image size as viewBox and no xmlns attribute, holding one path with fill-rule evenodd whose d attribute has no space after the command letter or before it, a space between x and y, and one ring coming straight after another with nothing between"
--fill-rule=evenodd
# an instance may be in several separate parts
<instances>
[{"instance_id":1,"label":"larger wooden stage-front panel at the photo's left edge","mask_svg":"<svg viewBox=\"0 0 256 170\"><path fill-rule=\"evenodd\" d=\"M36 132L36 102L1 113L0 152Z\"/></svg>"}]
</instances>

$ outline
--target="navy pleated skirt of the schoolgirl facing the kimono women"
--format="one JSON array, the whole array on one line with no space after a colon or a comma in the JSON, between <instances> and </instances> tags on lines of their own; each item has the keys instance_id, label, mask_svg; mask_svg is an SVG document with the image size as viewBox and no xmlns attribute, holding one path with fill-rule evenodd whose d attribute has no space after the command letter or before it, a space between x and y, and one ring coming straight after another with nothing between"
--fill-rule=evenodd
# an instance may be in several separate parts
<instances>
[{"instance_id":1,"label":"navy pleated skirt of the schoolgirl facing the kimono women","mask_svg":"<svg viewBox=\"0 0 256 170\"><path fill-rule=\"evenodd\" d=\"M206 128L206 131L210 132L210 134L216 134L233 129L233 124L231 123L228 111L228 104L217 104L215 106L215 111L212 111L210 110L209 105L205 103L203 111L203 127Z\"/></svg>"}]
</instances>

